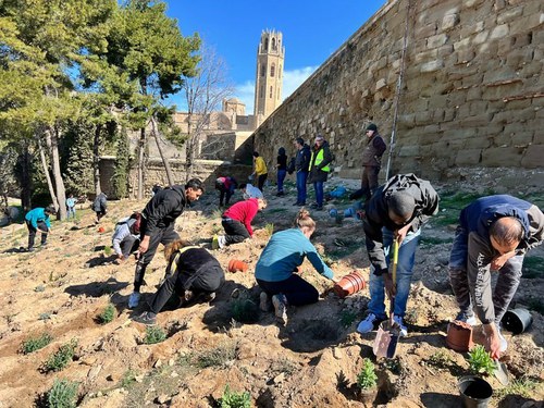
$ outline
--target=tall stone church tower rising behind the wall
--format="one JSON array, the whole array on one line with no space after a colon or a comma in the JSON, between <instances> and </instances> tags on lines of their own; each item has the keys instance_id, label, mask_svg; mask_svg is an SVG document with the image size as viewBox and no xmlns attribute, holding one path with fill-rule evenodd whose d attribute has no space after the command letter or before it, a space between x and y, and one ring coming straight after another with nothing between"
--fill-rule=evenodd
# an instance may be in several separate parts
<instances>
[{"instance_id":1,"label":"tall stone church tower rising behind the wall","mask_svg":"<svg viewBox=\"0 0 544 408\"><path fill-rule=\"evenodd\" d=\"M260 125L282 103L285 48L282 33L263 30L257 48L255 116Z\"/></svg>"}]
</instances>

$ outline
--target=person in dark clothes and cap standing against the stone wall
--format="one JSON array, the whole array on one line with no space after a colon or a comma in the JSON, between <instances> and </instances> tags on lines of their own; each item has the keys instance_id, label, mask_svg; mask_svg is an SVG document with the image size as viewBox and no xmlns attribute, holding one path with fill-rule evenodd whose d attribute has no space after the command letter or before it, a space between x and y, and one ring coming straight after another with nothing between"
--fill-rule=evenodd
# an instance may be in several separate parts
<instances>
[{"instance_id":1,"label":"person in dark clothes and cap standing against the stone wall","mask_svg":"<svg viewBox=\"0 0 544 408\"><path fill-rule=\"evenodd\" d=\"M375 124L369 124L364 132L367 133L367 146L362 151L361 188L351 194L350 198L364 198L364 202L367 202L378 188L378 174L380 173L382 156L386 146L382 136L378 133Z\"/></svg>"}]
</instances>

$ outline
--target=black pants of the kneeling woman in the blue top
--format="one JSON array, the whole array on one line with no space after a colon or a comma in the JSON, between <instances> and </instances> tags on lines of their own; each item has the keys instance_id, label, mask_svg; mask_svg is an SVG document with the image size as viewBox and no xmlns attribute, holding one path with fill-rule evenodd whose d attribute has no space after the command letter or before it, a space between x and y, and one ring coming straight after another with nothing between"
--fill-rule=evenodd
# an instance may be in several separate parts
<instances>
[{"instance_id":1,"label":"black pants of the kneeling woman in the blue top","mask_svg":"<svg viewBox=\"0 0 544 408\"><path fill-rule=\"evenodd\" d=\"M285 295L288 305L302 306L314 304L319 300L318 289L296 273L292 274L285 281L267 282L257 280L257 283L269 296Z\"/></svg>"}]
</instances>

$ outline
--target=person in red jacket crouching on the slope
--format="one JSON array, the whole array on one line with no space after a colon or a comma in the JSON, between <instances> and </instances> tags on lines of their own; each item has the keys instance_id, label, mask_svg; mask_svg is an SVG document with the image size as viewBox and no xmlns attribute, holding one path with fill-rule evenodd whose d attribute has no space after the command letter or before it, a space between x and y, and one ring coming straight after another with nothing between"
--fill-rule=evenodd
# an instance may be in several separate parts
<instances>
[{"instance_id":1,"label":"person in red jacket crouching on the slope","mask_svg":"<svg viewBox=\"0 0 544 408\"><path fill-rule=\"evenodd\" d=\"M249 198L233 205L222 215L221 224L225 230L225 235L213 236L212 249L238 244L252 237L251 221L257 215L257 212L264 208L267 208L267 200L263 198Z\"/></svg>"}]
</instances>

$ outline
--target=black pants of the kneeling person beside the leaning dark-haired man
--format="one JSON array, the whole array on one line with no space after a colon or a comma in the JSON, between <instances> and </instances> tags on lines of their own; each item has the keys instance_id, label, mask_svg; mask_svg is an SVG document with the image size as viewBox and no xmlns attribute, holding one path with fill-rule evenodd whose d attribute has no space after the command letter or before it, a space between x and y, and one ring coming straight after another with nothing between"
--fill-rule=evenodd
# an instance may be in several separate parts
<instances>
[{"instance_id":1,"label":"black pants of the kneeling person beside the leaning dark-haired man","mask_svg":"<svg viewBox=\"0 0 544 408\"><path fill-rule=\"evenodd\" d=\"M174 292L183 296L187 289L193 290L194 295L212 293L219 289L225 282L225 273L221 267L203 265L202 268L203 269L195 272L195 276L187 276L183 271L176 271L170 276L166 276L159 287L159 290L157 290L151 299L149 309L156 314L159 313Z\"/></svg>"}]
</instances>

